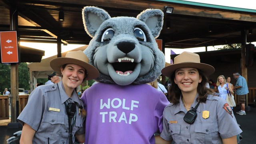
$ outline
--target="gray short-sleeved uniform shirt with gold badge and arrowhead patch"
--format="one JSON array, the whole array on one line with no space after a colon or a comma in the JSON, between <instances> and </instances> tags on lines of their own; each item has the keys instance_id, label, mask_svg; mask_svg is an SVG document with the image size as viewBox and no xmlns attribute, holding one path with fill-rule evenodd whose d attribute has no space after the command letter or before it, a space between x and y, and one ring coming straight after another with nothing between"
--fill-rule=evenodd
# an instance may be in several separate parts
<instances>
[{"instance_id":1,"label":"gray short-sleeved uniform shirt with gold badge and arrowhead patch","mask_svg":"<svg viewBox=\"0 0 256 144\"><path fill-rule=\"evenodd\" d=\"M196 98L193 108L198 103ZM218 96L208 95L206 103L199 104L193 124L183 120L186 113L181 98L179 104L171 103L166 106L163 113L164 129L160 136L165 140L173 140L176 144L222 144L222 139L242 132L232 109Z\"/></svg>"}]
</instances>

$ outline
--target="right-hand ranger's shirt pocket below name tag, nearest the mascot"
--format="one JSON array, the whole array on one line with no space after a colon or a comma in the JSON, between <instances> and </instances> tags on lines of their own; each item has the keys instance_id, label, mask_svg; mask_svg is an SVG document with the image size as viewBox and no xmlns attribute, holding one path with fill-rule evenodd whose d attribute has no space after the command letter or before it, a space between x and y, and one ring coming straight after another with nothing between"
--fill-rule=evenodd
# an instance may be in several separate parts
<instances>
[{"instance_id":1,"label":"right-hand ranger's shirt pocket below name tag, nearest the mascot","mask_svg":"<svg viewBox=\"0 0 256 144\"><path fill-rule=\"evenodd\" d=\"M180 124L169 124L169 132L172 135L172 139L175 142L181 142L180 134L181 125Z\"/></svg>"}]
</instances>

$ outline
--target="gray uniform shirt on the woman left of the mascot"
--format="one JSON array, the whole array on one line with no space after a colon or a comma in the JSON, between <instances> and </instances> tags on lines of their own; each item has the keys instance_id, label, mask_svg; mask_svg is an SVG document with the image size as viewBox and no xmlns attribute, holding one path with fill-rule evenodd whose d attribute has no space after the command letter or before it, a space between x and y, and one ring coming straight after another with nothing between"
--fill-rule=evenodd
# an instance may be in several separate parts
<instances>
[{"instance_id":1,"label":"gray uniform shirt on the woman left of the mascot","mask_svg":"<svg viewBox=\"0 0 256 144\"><path fill-rule=\"evenodd\" d=\"M30 94L28 104L17 119L22 125L26 123L36 130L33 144L48 144L48 141L49 144L68 144L69 126L65 102L76 104L76 122L72 130L73 142L75 133L85 132L84 119L81 114L79 115L78 110L78 106L84 107L84 104L79 99L75 91L71 98L67 96L62 81L58 84L39 86Z\"/></svg>"}]
</instances>

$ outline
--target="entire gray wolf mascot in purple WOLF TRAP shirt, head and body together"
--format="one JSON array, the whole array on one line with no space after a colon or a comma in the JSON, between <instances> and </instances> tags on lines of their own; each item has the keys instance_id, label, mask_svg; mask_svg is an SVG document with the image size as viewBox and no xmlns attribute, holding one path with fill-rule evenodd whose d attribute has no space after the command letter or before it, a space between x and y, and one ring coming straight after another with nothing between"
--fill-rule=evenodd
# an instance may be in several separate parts
<instances>
[{"instance_id":1,"label":"entire gray wolf mascot in purple WOLF TRAP shirt, head and body together","mask_svg":"<svg viewBox=\"0 0 256 144\"><path fill-rule=\"evenodd\" d=\"M144 10L137 18L115 17L84 7L84 28L92 37L84 53L100 76L82 94L85 144L154 144L162 131L163 92L146 84L164 68L155 38L163 24L161 10Z\"/></svg>"}]
</instances>

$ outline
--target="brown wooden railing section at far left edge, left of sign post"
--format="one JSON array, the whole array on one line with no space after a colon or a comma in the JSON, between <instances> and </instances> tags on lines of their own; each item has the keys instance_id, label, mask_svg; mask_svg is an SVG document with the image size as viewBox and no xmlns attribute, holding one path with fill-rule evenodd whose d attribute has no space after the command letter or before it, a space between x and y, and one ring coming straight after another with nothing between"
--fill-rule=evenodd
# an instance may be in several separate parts
<instances>
[{"instance_id":1,"label":"brown wooden railing section at far left edge, left of sign post","mask_svg":"<svg viewBox=\"0 0 256 144\"><path fill-rule=\"evenodd\" d=\"M0 120L9 119L9 96L0 96Z\"/></svg>"}]
</instances>

